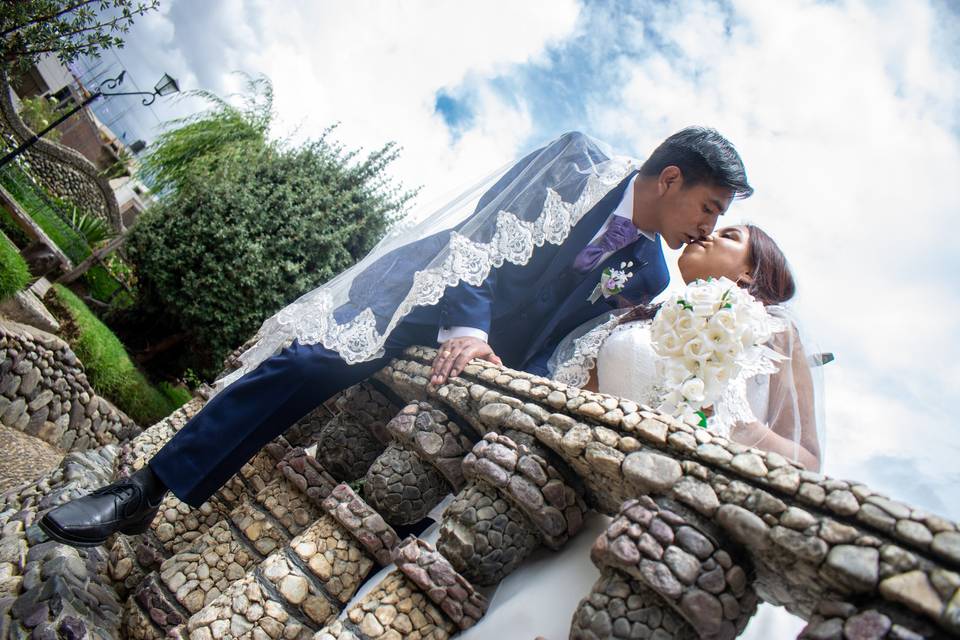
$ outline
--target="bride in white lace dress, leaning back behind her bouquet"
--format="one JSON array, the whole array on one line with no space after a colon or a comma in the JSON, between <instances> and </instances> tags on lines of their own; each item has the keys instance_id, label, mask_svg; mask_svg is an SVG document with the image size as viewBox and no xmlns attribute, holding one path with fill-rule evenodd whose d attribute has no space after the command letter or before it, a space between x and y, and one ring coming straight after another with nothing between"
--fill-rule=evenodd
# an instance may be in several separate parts
<instances>
[{"instance_id":1,"label":"bride in white lace dress, leaning back behind her bouquet","mask_svg":"<svg viewBox=\"0 0 960 640\"><path fill-rule=\"evenodd\" d=\"M707 428L735 442L779 453L819 470L822 434L817 425L813 366L795 321L782 306L795 284L783 252L754 225L717 230L689 244L678 260L686 283L727 278L763 303L782 330L757 350L724 390ZM559 382L656 406L662 387L651 338L658 306L594 319L568 335L548 363ZM598 324L599 322L599 324Z\"/></svg>"}]
</instances>

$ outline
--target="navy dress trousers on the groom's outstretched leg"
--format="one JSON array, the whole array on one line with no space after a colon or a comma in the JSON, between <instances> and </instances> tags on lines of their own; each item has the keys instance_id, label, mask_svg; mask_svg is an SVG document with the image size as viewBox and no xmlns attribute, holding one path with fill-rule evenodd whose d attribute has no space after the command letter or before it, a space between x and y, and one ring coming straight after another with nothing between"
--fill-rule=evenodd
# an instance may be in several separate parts
<instances>
[{"instance_id":1,"label":"navy dress trousers on the groom's outstretched leg","mask_svg":"<svg viewBox=\"0 0 960 640\"><path fill-rule=\"evenodd\" d=\"M347 364L321 344L294 341L218 393L150 460L178 498L198 507L265 444L413 344L435 346L436 325L401 323L381 358Z\"/></svg>"}]
</instances>

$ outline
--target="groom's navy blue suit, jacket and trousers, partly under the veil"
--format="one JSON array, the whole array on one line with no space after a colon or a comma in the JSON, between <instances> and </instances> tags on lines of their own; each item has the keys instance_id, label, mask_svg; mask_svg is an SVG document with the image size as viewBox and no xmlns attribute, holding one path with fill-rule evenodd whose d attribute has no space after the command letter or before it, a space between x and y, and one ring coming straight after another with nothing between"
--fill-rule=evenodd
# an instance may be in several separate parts
<instances>
[{"instance_id":1,"label":"groom's navy blue suit, jacket and trousers, partly under the veil","mask_svg":"<svg viewBox=\"0 0 960 640\"><path fill-rule=\"evenodd\" d=\"M478 209L502 195L502 185L521 174L533 155L484 194ZM294 341L207 403L154 456L151 468L177 497L199 505L263 445L334 393L369 377L409 345L436 345L442 326L482 329L506 366L546 374L547 359L567 333L612 309L648 302L667 285L659 237L651 241L641 236L585 274L572 268L577 254L620 203L631 177L588 211L563 244L538 247L526 265L506 263L480 286L461 283L448 289L437 305L416 308L390 334L381 358L348 365L322 345ZM448 238L449 231L387 254L358 275L355 286L390 278L397 271L392 267L404 261L436 255L436 247ZM623 291L591 304L588 298L603 269L628 261L634 263L634 276ZM341 307L335 314L341 319L351 311Z\"/></svg>"}]
</instances>

